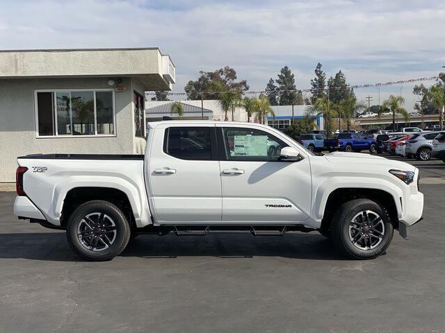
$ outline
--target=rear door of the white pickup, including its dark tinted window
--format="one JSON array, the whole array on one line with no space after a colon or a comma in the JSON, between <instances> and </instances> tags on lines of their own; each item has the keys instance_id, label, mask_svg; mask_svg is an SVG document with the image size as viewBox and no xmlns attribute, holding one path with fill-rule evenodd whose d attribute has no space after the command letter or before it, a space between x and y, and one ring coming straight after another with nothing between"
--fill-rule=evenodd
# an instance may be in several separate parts
<instances>
[{"instance_id":1,"label":"rear door of the white pickup, including its dark tinted window","mask_svg":"<svg viewBox=\"0 0 445 333\"><path fill-rule=\"evenodd\" d=\"M215 126L158 126L154 142L147 161L154 221L220 221L221 180Z\"/></svg>"}]
</instances>

